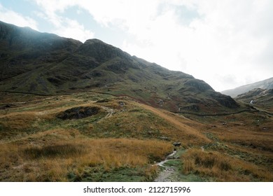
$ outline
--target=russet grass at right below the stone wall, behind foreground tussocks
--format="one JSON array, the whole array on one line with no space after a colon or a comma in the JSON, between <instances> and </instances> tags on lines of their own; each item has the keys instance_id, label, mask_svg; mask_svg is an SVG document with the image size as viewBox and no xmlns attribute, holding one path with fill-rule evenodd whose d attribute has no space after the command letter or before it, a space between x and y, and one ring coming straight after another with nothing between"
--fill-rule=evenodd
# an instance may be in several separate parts
<instances>
[{"instance_id":1,"label":"russet grass at right below the stone wall, behind foreground tussocks","mask_svg":"<svg viewBox=\"0 0 273 196\"><path fill-rule=\"evenodd\" d=\"M272 117L266 113L239 113L194 119L204 124L200 129L213 141L204 145L206 151L217 151L272 174Z\"/></svg>"}]
</instances>

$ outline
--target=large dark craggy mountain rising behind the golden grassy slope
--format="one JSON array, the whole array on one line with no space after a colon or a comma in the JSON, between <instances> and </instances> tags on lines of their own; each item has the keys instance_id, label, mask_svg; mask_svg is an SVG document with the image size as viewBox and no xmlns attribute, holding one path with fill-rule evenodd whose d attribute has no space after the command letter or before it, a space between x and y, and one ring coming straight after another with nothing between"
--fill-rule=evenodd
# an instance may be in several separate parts
<instances>
[{"instance_id":1,"label":"large dark craggy mountain rising behind the golden grassy slope","mask_svg":"<svg viewBox=\"0 0 273 196\"><path fill-rule=\"evenodd\" d=\"M81 43L0 22L0 90L32 94L94 91L169 111L237 109L203 80L169 71L98 39Z\"/></svg>"}]
</instances>

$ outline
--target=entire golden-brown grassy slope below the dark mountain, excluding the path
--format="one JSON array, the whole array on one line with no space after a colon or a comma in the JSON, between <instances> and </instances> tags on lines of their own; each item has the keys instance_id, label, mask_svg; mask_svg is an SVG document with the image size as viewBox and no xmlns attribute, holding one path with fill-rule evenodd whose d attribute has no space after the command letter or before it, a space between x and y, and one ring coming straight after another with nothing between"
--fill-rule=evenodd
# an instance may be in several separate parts
<instances>
[{"instance_id":1,"label":"entire golden-brown grassy slope below the dark mountain, excluding the path","mask_svg":"<svg viewBox=\"0 0 273 196\"><path fill-rule=\"evenodd\" d=\"M272 118L265 113L190 120L94 92L1 94L1 103L1 181L153 181L153 163L172 152L174 141L184 149L174 161L176 181L273 180ZM78 120L56 118L75 106L100 110Z\"/></svg>"}]
</instances>

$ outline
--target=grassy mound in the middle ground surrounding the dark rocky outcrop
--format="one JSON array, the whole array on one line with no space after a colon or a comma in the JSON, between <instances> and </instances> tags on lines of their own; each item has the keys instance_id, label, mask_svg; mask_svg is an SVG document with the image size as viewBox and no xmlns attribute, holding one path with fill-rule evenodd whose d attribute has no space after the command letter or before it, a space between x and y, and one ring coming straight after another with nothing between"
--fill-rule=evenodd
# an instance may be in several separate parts
<instances>
[{"instance_id":1,"label":"grassy mound in the middle ground surrounding the dark rocky outcrop","mask_svg":"<svg viewBox=\"0 0 273 196\"><path fill-rule=\"evenodd\" d=\"M8 114L4 114L3 117L0 115L0 127L1 130L4 130L0 134L3 138L10 140L25 137L26 134L62 128L80 130L87 137L127 137L167 141L179 139L183 141L184 146L201 142L198 139L200 135L187 133L189 127L178 128L153 111L134 104L130 98L107 99L105 94L102 99L98 99L98 97L95 94L75 94L58 99L56 97L46 97L42 100L34 99L35 104L31 101L30 104L19 105L10 109ZM111 96L109 95L109 97ZM107 102L97 102L105 99ZM48 100L50 100L50 104L48 104ZM83 101L86 100L87 102L83 104ZM119 102L124 102L125 106L120 106ZM56 118L59 113L75 106L104 106L112 109L115 114L111 116L111 119L105 118L107 111L100 109L99 113L88 118L78 120Z\"/></svg>"}]
</instances>

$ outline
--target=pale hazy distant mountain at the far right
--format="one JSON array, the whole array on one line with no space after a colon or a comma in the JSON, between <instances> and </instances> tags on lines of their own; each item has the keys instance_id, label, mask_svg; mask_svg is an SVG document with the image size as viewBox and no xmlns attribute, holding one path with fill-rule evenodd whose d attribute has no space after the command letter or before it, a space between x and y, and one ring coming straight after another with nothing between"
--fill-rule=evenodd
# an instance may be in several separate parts
<instances>
[{"instance_id":1,"label":"pale hazy distant mountain at the far right","mask_svg":"<svg viewBox=\"0 0 273 196\"><path fill-rule=\"evenodd\" d=\"M221 93L230 95L231 97L237 97L237 95L243 94L244 92L248 92L249 90L253 90L255 88L261 88L261 89L273 88L273 78L268 78L266 80L262 80L257 83L235 87L234 89L230 89L230 90L224 90Z\"/></svg>"}]
</instances>

